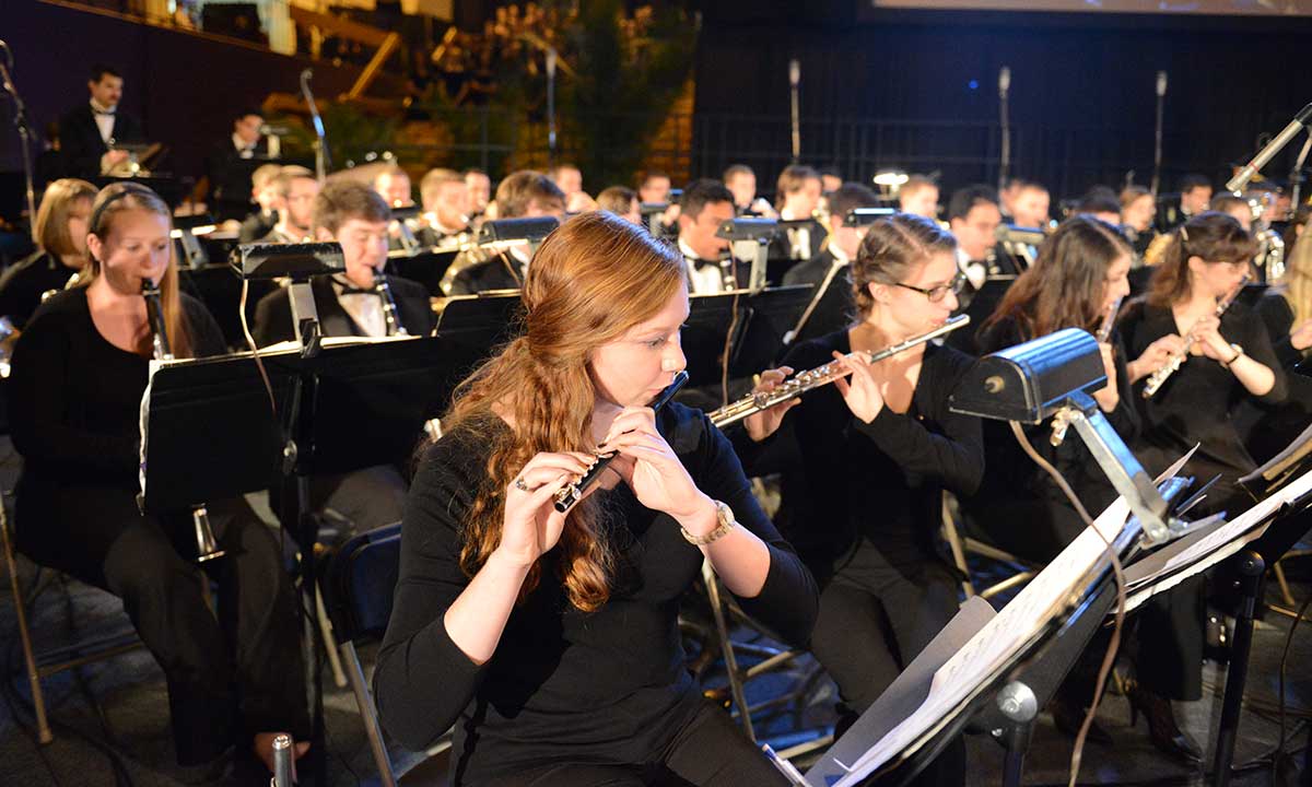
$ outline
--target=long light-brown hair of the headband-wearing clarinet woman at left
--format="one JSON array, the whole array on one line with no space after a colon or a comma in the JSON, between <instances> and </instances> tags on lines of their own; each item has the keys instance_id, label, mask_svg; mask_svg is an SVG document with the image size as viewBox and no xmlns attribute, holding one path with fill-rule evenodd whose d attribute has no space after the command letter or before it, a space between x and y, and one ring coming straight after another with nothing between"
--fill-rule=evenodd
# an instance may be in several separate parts
<instances>
[{"instance_id":1,"label":"long light-brown hair of the headband-wearing clarinet woman at left","mask_svg":"<svg viewBox=\"0 0 1312 787\"><path fill-rule=\"evenodd\" d=\"M168 205L160 199L159 194L140 184L114 182L101 189L96 197L96 202L91 209L91 222L87 226L87 232L98 237L101 243L109 244L114 235L114 224L118 223L125 212L131 210L143 210L164 216L169 230L172 231L173 228L173 214L169 212ZM85 270L89 275L84 275L79 282L80 285L89 285L101 275L102 261L97 260L89 251L88 257L89 262ZM164 329L168 331L169 346L173 354L178 358L190 358L192 332L182 315L182 302L177 285L177 257L172 239L169 239L168 268L164 269L164 277L160 279L160 310L164 312ZM148 337L138 348L138 352L146 355L150 354L151 345Z\"/></svg>"}]
</instances>

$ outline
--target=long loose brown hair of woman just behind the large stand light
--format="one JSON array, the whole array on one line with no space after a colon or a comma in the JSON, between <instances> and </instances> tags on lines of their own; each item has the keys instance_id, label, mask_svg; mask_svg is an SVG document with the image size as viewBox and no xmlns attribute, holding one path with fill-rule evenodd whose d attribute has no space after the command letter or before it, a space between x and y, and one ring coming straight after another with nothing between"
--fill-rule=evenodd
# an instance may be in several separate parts
<instances>
[{"instance_id":1,"label":"long loose brown hair of woman just behind the large stand light","mask_svg":"<svg viewBox=\"0 0 1312 787\"><path fill-rule=\"evenodd\" d=\"M1010 317L1026 340L1061 328L1094 332L1105 316L1107 269L1132 256L1111 224L1088 214L1067 219L1043 240L1038 260L1017 277L980 331Z\"/></svg>"}]
</instances>

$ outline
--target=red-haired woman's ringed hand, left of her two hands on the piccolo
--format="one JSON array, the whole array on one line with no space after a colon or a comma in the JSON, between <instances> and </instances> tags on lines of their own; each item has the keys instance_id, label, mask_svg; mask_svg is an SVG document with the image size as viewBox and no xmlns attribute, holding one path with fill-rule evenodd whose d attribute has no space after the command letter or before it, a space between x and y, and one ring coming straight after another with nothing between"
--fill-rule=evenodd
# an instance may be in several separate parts
<instances>
[{"instance_id":1,"label":"red-haired woman's ringed hand, left of her two hands on the piccolo","mask_svg":"<svg viewBox=\"0 0 1312 787\"><path fill-rule=\"evenodd\" d=\"M580 453L541 453L505 488L501 543L496 551L517 565L533 565L560 540L565 514L554 508L555 494L579 480L597 458Z\"/></svg>"}]
</instances>

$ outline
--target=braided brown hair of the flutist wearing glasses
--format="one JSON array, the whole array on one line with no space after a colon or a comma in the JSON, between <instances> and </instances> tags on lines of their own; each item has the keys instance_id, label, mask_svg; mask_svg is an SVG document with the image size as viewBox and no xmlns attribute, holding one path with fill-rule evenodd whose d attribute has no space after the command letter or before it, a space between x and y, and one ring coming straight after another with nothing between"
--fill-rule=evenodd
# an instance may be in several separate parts
<instances>
[{"instance_id":1,"label":"braided brown hair of the flutist wearing glasses","mask_svg":"<svg viewBox=\"0 0 1312 787\"><path fill-rule=\"evenodd\" d=\"M870 285L896 285L938 252L956 252L956 239L935 222L914 214L893 214L870 226L851 262L851 294L858 316L875 307Z\"/></svg>"}]
</instances>

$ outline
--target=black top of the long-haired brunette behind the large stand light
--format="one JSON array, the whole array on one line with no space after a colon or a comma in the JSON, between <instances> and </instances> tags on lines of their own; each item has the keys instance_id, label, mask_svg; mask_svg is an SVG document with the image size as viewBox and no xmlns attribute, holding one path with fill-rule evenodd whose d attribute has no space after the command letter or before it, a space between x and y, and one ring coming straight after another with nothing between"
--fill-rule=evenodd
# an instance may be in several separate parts
<instances>
[{"instance_id":1,"label":"black top of the long-haired brunette behind the large stand light","mask_svg":"<svg viewBox=\"0 0 1312 787\"><path fill-rule=\"evenodd\" d=\"M1021 328L1015 320L1005 317L991 324L981 331L977 337L980 353L996 353L1001 349L1029 341L1029 336L1021 334ZM1117 391L1120 401L1110 413L1103 413L1111 428L1117 430L1120 439L1127 446L1139 438L1140 418L1134 401L1134 390L1130 384L1130 373L1126 370L1126 352L1120 346L1118 333L1111 336L1115 348ZM1085 509L1094 517L1111 505L1117 498L1115 487L1098 466L1097 459L1089 451L1089 446L1072 429L1060 446L1054 447L1051 442L1051 418L1036 426L1025 428L1030 445L1040 456L1056 467L1071 484L1072 491L1084 504ZM984 425L984 445L987 446L988 460L984 474L984 484L975 496L976 504L987 504L989 500L1044 500L1057 505L1068 505L1065 494L1056 483L1035 464L1025 450L1017 443L1010 426L1004 421L989 421Z\"/></svg>"}]
</instances>

